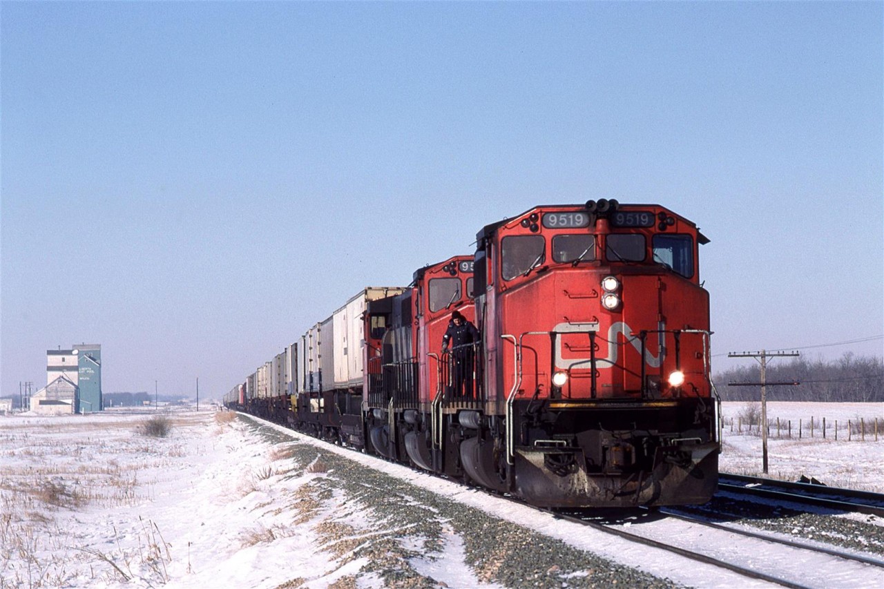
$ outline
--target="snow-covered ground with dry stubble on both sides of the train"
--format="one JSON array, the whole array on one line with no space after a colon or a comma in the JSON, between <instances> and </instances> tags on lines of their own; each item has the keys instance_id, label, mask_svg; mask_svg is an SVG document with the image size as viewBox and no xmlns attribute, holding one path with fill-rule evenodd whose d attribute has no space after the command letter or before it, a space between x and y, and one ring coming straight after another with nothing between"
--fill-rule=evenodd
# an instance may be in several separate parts
<instances>
[{"instance_id":1,"label":"snow-covered ground with dry stubble on both sides of the train","mask_svg":"<svg viewBox=\"0 0 884 589\"><path fill-rule=\"evenodd\" d=\"M743 409L743 403L726 403L725 417ZM827 417L827 424L880 418L882 411L881 403L768 407L773 418ZM504 586L494 579L506 555L470 560L465 543L471 540L455 516L439 516L427 526L397 522L363 504L360 493L331 485L330 464L340 463L339 453L348 456L354 473L362 473L351 476L362 478L357 484L372 485L365 473L375 470L405 478L423 489L407 492L415 497L445 495L554 537L577 556L641 562L644 571L682 585L745 582L719 574L697 585L697 568L687 571L671 557L649 558L644 548L597 538L529 509L501 506L481 493L370 456L293 440L283 431L269 439L229 412L166 414L171 432L164 438L142 433L149 417L113 411L0 417L0 588ZM727 425L724 433L721 470L760 472L758 433L730 432ZM823 440L817 433L802 440L772 437L771 475L804 474L833 486L884 493L884 432L877 442L869 432L865 441L857 435L848 441L840 433L837 441ZM399 583L390 570L408 570L423 582ZM605 585L593 580L598 574L598 564L587 564L558 585ZM582 579L585 583L578 582ZM881 581L854 580L851 586Z\"/></svg>"}]
</instances>

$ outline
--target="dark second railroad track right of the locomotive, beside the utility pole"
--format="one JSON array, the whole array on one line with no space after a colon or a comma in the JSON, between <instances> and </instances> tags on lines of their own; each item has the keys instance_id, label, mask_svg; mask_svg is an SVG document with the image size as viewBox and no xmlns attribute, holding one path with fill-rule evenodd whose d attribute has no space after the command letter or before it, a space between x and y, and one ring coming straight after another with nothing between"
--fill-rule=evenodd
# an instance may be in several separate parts
<instances>
[{"instance_id":1,"label":"dark second railroad track right of the locomotive, beside the utility pole","mask_svg":"<svg viewBox=\"0 0 884 589\"><path fill-rule=\"evenodd\" d=\"M719 475L719 492L809 505L838 513L856 512L884 517L884 494L880 493L728 473Z\"/></svg>"}]
</instances>

